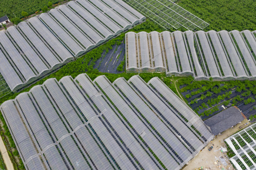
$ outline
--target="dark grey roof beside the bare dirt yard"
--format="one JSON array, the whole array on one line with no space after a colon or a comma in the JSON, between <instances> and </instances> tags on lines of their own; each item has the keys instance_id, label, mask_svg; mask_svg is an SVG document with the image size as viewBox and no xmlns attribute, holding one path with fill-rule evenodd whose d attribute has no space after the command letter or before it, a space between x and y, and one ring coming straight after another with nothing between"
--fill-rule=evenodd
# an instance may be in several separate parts
<instances>
[{"instance_id":1,"label":"dark grey roof beside the bare dirt yard","mask_svg":"<svg viewBox=\"0 0 256 170\"><path fill-rule=\"evenodd\" d=\"M218 135L219 133L243 121L243 119L244 118L238 109L230 107L229 109L223 110L205 120L204 123L211 128L214 135Z\"/></svg>"}]
</instances>

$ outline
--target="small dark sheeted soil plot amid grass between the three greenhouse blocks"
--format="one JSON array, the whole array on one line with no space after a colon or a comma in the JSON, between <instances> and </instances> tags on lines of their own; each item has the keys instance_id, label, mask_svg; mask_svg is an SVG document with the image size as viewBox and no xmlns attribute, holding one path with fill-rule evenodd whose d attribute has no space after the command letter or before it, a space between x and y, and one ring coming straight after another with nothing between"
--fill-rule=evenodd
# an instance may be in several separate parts
<instances>
[{"instance_id":1,"label":"small dark sheeted soil plot amid grass between the three greenhouse blocks","mask_svg":"<svg viewBox=\"0 0 256 170\"><path fill-rule=\"evenodd\" d=\"M107 54L102 53L100 59L98 59L93 68L97 68L99 72L102 73L122 73L117 71L116 68L119 66L122 60L124 60L125 55L125 44L124 42L121 45L114 45ZM124 72L124 71L123 71Z\"/></svg>"}]
</instances>

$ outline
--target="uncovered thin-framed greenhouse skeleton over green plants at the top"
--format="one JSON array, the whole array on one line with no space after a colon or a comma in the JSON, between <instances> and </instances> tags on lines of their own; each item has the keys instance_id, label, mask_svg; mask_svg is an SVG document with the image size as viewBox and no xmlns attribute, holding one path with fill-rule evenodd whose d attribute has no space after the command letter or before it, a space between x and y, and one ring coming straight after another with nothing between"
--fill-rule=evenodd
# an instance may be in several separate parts
<instances>
[{"instance_id":1,"label":"uncovered thin-framed greenhouse skeleton over green plants at the top","mask_svg":"<svg viewBox=\"0 0 256 170\"><path fill-rule=\"evenodd\" d=\"M184 27L188 30L201 30L208 23L194 16L174 3L175 0L124 0L144 16L150 18L165 29Z\"/></svg>"}]
</instances>

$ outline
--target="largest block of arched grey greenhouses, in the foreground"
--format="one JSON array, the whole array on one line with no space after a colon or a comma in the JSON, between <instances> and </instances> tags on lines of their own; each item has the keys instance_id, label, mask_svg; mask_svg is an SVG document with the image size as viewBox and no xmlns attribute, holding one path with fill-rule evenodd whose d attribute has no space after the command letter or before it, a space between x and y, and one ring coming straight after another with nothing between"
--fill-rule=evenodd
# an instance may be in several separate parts
<instances>
[{"instance_id":1,"label":"largest block of arched grey greenhouses, in the foreground","mask_svg":"<svg viewBox=\"0 0 256 170\"><path fill-rule=\"evenodd\" d=\"M0 111L27 170L180 170L213 138L158 77L51 78Z\"/></svg>"}]
</instances>

